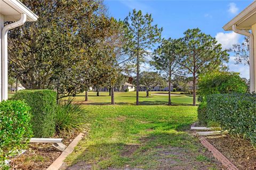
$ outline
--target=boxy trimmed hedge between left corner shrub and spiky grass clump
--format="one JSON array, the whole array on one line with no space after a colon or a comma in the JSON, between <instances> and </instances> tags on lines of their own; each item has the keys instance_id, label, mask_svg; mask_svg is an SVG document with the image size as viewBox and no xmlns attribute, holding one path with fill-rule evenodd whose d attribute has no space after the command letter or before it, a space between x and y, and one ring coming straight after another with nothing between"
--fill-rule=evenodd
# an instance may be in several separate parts
<instances>
[{"instance_id":1,"label":"boxy trimmed hedge between left corner shrub and spiky grass clump","mask_svg":"<svg viewBox=\"0 0 256 170\"><path fill-rule=\"evenodd\" d=\"M35 137L51 137L55 133L55 108L57 95L51 90L21 90L14 100L25 100L31 108L31 124Z\"/></svg>"}]
</instances>

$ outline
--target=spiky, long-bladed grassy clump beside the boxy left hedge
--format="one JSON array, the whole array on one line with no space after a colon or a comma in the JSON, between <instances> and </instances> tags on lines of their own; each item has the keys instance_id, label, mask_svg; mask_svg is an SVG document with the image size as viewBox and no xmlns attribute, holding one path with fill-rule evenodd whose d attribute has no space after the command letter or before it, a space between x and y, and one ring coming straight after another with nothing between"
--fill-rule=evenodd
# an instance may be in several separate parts
<instances>
[{"instance_id":1,"label":"spiky, long-bladed grassy clump beside the boxy left hedge","mask_svg":"<svg viewBox=\"0 0 256 170\"><path fill-rule=\"evenodd\" d=\"M85 123L85 111L73 100L60 101L56 109L56 130L59 133L71 133L73 129L82 129Z\"/></svg>"}]
</instances>

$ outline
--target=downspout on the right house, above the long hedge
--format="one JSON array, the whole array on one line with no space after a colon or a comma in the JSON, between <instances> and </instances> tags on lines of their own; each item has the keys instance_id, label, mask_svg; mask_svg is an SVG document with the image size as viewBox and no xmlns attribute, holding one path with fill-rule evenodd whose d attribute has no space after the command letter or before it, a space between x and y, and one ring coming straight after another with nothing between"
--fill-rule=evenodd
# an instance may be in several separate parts
<instances>
[{"instance_id":1,"label":"downspout on the right house, above the long hedge","mask_svg":"<svg viewBox=\"0 0 256 170\"><path fill-rule=\"evenodd\" d=\"M250 61L250 93L255 92L255 83L254 83L254 77L255 77L255 70L254 70L254 49L253 49L253 34L239 30L237 29L236 25L232 26L232 30L237 33L237 34L242 34L246 37L249 37L249 49L250 49L250 56L249 56L249 61Z\"/></svg>"}]
</instances>

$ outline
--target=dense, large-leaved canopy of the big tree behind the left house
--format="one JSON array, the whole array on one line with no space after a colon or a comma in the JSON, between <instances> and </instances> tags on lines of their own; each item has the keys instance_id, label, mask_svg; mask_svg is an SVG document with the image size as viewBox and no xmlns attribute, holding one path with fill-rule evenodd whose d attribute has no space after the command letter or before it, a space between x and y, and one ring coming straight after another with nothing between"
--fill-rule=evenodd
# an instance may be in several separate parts
<instances>
[{"instance_id":1,"label":"dense, large-leaved canopy of the big tree behind the left house","mask_svg":"<svg viewBox=\"0 0 256 170\"><path fill-rule=\"evenodd\" d=\"M116 20L101 1L22 1L39 17L9 34L9 70L28 89L75 95L114 75L107 43Z\"/></svg>"}]
</instances>

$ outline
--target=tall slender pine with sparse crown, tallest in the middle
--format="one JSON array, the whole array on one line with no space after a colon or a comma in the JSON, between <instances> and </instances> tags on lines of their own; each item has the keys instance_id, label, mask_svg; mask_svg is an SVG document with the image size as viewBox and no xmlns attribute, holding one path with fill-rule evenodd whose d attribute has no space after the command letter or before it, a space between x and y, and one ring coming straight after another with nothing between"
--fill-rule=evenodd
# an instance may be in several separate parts
<instances>
[{"instance_id":1,"label":"tall slender pine with sparse crown, tallest in the middle","mask_svg":"<svg viewBox=\"0 0 256 170\"><path fill-rule=\"evenodd\" d=\"M145 61L145 56L149 54L151 48L155 43L161 41L162 28L158 28L157 25L152 25L153 18L151 14L136 11L135 9L130 12L128 17L124 19L126 26L126 37L129 40L129 44L126 48L126 52L132 57L135 57L137 66L136 77L136 104L139 104L139 74L140 64Z\"/></svg>"}]
</instances>

